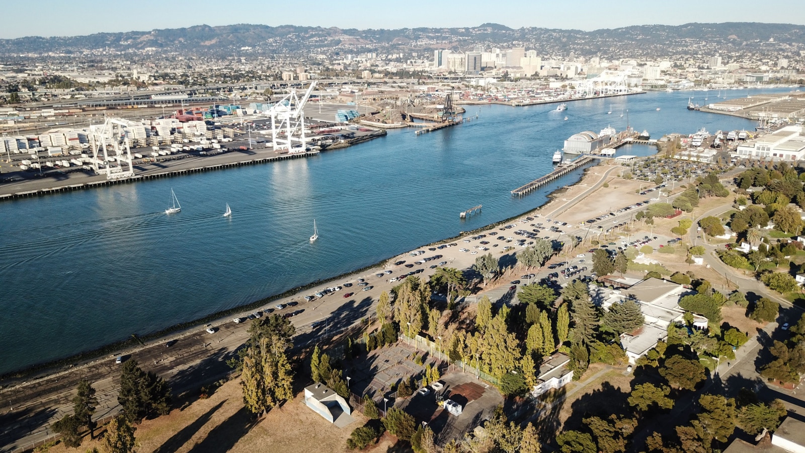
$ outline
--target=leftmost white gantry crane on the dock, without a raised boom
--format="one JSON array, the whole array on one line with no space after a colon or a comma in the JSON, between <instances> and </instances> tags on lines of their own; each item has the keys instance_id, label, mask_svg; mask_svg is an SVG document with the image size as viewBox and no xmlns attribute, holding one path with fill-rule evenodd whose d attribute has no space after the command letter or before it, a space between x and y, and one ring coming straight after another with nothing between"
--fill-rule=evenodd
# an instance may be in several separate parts
<instances>
[{"instance_id":1,"label":"leftmost white gantry crane on the dock, without a raised boom","mask_svg":"<svg viewBox=\"0 0 805 453\"><path fill-rule=\"evenodd\" d=\"M134 125L125 119L106 118L103 124L89 127L92 164L97 174L105 174L106 179L134 176L129 139L129 129Z\"/></svg>"}]
</instances>

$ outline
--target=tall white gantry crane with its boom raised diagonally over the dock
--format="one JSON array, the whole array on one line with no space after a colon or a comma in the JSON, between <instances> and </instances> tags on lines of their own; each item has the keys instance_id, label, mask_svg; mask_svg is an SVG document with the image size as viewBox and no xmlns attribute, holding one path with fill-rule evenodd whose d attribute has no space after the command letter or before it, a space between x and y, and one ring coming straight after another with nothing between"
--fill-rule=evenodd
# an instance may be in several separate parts
<instances>
[{"instance_id":1,"label":"tall white gantry crane with its boom raised diagonally over the dock","mask_svg":"<svg viewBox=\"0 0 805 453\"><path fill-rule=\"evenodd\" d=\"M302 109L308 102L316 81L310 83L302 98L296 96L296 89L271 106L271 139L275 152L305 152L308 141L304 137L304 114ZM294 146L294 142L299 143Z\"/></svg>"}]
</instances>

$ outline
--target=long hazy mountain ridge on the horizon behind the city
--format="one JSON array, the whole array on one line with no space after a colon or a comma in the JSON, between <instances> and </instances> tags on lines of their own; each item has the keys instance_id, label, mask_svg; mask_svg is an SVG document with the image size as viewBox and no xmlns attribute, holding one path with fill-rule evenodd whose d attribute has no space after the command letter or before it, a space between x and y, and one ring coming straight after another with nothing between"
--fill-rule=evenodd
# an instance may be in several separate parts
<instances>
[{"instance_id":1,"label":"long hazy mountain ridge on the horizon behind the city","mask_svg":"<svg viewBox=\"0 0 805 453\"><path fill-rule=\"evenodd\" d=\"M310 48L455 48L465 50L473 44L508 47L511 43L548 52L576 52L577 55L650 49L672 52L680 46L720 46L723 50L768 46L805 46L805 26L785 23L686 23L679 26L639 25L595 31L559 30L539 27L512 29L497 23L478 27L341 29L281 25L236 24L220 27L197 25L153 31L96 33L83 36L45 38L29 36L0 39L0 54L73 53L109 48L126 52L156 48L170 52L225 53L241 48L254 52L283 54ZM697 43L698 41L698 43ZM613 48L614 47L614 48ZM606 55L602 55L606 56Z\"/></svg>"}]
</instances>

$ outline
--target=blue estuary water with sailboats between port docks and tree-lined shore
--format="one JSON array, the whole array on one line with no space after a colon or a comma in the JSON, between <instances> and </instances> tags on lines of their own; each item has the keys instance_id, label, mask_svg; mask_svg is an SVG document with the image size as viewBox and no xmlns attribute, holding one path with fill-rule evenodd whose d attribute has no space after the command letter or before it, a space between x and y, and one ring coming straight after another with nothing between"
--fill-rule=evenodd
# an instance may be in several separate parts
<instances>
[{"instance_id":1,"label":"blue estuary water with sailboats between port docks and tree-lined shore","mask_svg":"<svg viewBox=\"0 0 805 453\"><path fill-rule=\"evenodd\" d=\"M737 98L747 90L724 93ZM704 92L693 94L704 102ZM419 136L390 131L308 159L2 202L0 373L146 335L532 210L581 172L526 197L510 190L549 172L555 149L576 132L621 131L627 117L654 138L754 127L688 111L690 95L568 102L564 112L467 106L467 116L478 114L470 123ZM717 101L716 92L708 96ZM634 145L619 154L653 152ZM171 188L182 211L168 216ZM226 203L231 218L222 217ZM460 211L479 204L481 214L460 220ZM314 218L320 239L309 243Z\"/></svg>"}]
</instances>

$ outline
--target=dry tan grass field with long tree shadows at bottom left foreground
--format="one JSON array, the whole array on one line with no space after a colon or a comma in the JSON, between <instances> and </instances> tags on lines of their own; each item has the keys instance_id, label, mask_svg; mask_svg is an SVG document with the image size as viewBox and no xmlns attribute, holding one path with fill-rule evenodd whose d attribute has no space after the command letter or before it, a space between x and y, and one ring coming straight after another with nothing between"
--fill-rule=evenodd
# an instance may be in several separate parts
<instances>
[{"instance_id":1,"label":"dry tan grass field with long tree shadows at bottom left foreground","mask_svg":"<svg viewBox=\"0 0 805 453\"><path fill-rule=\"evenodd\" d=\"M344 429L336 428L320 415L308 409L303 393L282 408L274 409L255 421L243 408L239 380L231 380L206 400L198 400L183 409L155 420L142 422L134 433L140 453L291 453L296 451L349 451L346 439L365 418L353 412L357 419ZM367 451L385 452L394 445L394 438L384 436L381 442ZM98 447L101 443L86 439L78 451ZM52 453L75 452L58 445Z\"/></svg>"}]
</instances>

